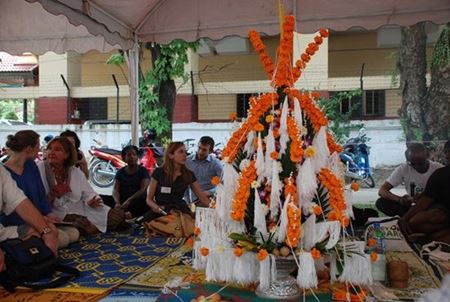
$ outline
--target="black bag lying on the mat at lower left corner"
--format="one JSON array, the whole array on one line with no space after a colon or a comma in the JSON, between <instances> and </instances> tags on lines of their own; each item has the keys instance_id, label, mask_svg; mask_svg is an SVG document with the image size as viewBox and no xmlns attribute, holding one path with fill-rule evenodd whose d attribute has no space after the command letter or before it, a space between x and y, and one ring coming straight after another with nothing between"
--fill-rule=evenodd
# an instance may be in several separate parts
<instances>
[{"instance_id":1,"label":"black bag lying on the mat at lower left corner","mask_svg":"<svg viewBox=\"0 0 450 302\"><path fill-rule=\"evenodd\" d=\"M0 248L6 265L6 271L0 273L0 285L9 292L14 292L17 286L54 288L80 275L76 268L62 265L41 238L9 239L1 242ZM55 272L64 275L53 278Z\"/></svg>"}]
</instances>

